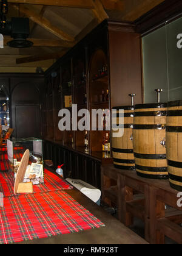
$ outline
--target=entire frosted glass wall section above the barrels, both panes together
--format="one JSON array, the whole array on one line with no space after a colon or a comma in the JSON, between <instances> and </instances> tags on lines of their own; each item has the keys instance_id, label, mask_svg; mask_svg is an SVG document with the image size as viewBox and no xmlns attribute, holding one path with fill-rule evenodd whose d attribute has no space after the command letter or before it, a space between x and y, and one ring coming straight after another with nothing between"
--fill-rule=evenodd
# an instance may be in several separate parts
<instances>
[{"instance_id":1,"label":"entire frosted glass wall section above the barrels, both panes together","mask_svg":"<svg viewBox=\"0 0 182 256\"><path fill-rule=\"evenodd\" d=\"M143 76L146 103L156 101L155 88L163 102L182 100L182 18L143 37Z\"/></svg>"}]
</instances>

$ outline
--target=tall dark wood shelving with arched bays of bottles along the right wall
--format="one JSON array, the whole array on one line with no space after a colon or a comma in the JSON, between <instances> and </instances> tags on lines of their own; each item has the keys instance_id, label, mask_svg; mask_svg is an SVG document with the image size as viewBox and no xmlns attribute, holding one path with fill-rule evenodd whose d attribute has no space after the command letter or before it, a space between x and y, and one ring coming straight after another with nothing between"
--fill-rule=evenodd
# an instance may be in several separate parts
<instances>
[{"instance_id":1,"label":"tall dark wood shelving with arched bays of bottles along the right wall","mask_svg":"<svg viewBox=\"0 0 182 256\"><path fill-rule=\"evenodd\" d=\"M66 164L66 176L84 179L94 185L95 180L100 180L101 163L112 162L112 158L102 151L106 130L99 131L98 123L97 130L90 129L89 149L85 151L85 131L75 131L72 127L70 131L58 129L59 110L67 108L71 118L73 104L77 104L77 113L83 108L89 110L92 127L93 109L111 110L113 106L130 105L130 93L136 93L136 103L141 103L140 43L140 35L135 32L133 24L104 21L46 72L42 138L57 145L56 149L58 145L59 150L64 149L67 155L62 155L60 161ZM78 121L81 118L83 116L78 117ZM107 133L110 136L110 132ZM47 154L47 157L54 160L58 152ZM83 157L88 160L84 163L78 161ZM93 158L98 162L97 171L93 167ZM55 160L55 165L60 161ZM78 168L81 165L82 168ZM100 181L96 183L100 187Z\"/></svg>"}]
</instances>

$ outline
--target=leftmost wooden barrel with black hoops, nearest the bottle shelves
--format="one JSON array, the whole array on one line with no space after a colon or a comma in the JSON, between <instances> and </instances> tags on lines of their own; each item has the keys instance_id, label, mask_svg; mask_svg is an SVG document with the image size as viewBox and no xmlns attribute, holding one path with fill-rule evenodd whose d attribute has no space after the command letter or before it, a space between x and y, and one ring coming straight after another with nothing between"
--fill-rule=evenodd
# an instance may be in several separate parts
<instances>
[{"instance_id":1,"label":"leftmost wooden barrel with black hoops, nearest the bottle shelves","mask_svg":"<svg viewBox=\"0 0 182 256\"><path fill-rule=\"evenodd\" d=\"M113 137L114 131L112 130L112 155L113 164L115 168L133 170L135 169L135 159L133 155L132 143L132 128L133 128L133 115L134 108L129 107L114 107L116 110L115 115L112 116L113 124L119 123L119 110L124 110L124 134L123 137Z\"/></svg>"}]
</instances>

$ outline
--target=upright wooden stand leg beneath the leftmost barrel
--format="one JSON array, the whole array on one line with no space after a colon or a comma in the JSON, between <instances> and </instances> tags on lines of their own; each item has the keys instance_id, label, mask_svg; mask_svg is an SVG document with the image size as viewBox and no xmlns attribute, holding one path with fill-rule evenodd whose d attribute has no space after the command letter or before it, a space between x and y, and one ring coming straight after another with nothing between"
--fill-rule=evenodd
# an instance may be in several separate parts
<instances>
[{"instance_id":1,"label":"upright wooden stand leg beneath the leftmost barrel","mask_svg":"<svg viewBox=\"0 0 182 256\"><path fill-rule=\"evenodd\" d=\"M131 226L133 224L133 217L132 215L127 212L126 210L126 202L133 200L133 190L132 188L126 187L126 180L124 176L120 176L120 184L121 184L121 198L120 198L120 205L121 205L121 222L124 225Z\"/></svg>"}]
</instances>

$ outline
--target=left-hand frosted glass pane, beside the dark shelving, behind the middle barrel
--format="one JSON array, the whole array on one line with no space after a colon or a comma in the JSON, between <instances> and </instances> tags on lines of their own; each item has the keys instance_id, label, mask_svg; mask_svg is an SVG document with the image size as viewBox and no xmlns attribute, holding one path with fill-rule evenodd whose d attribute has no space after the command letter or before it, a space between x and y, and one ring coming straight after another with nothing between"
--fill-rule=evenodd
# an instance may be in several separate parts
<instances>
[{"instance_id":1,"label":"left-hand frosted glass pane, beside the dark shelving, behind the middle barrel","mask_svg":"<svg viewBox=\"0 0 182 256\"><path fill-rule=\"evenodd\" d=\"M157 102L155 89L163 88L161 102L168 100L166 27L143 37L145 103Z\"/></svg>"}]
</instances>

